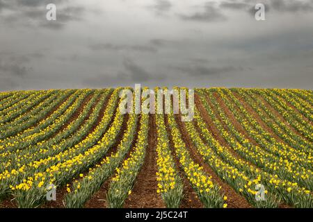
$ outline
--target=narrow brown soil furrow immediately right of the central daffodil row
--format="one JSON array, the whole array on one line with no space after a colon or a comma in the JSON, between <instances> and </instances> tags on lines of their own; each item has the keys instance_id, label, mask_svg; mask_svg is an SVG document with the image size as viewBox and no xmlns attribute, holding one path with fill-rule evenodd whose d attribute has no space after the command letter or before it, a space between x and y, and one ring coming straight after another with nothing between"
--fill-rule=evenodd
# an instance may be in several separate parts
<instances>
[{"instance_id":1,"label":"narrow brown soil furrow immediately right of the central daffodil row","mask_svg":"<svg viewBox=\"0 0 313 222\"><path fill-rule=\"evenodd\" d=\"M179 177L182 178L182 182L184 185L184 198L182 199L182 203L180 205L181 208L203 208L203 204L200 202L197 194L188 179L185 176L184 170L182 169L182 165L179 163L178 157L175 153L174 143L172 141L172 134L170 133L170 127L168 126L168 115L164 115L164 120L166 123L166 130L168 132L168 139L170 140L170 149L172 153L173 160L175 161L175 165L177 167L177 171Z\"/></svg>"}]
</instances>

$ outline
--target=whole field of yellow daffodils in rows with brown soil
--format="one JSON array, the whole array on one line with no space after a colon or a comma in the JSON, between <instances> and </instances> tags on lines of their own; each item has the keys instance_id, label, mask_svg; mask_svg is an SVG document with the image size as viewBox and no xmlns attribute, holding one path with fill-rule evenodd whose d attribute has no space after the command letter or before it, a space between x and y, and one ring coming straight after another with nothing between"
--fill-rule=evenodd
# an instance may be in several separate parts
<instances>
[{"instance_id":1,"label":"whole field of yellow daffodils in rows with brown soil","mask_svg":"<svg viewBox=\"0 0 313 222\"><path fill-rule=\"evenodd\" d=\"M0 208L313 207L312 90L198 88L182 121L122 89L0 92Z\"/></svg>"}]
</instances>

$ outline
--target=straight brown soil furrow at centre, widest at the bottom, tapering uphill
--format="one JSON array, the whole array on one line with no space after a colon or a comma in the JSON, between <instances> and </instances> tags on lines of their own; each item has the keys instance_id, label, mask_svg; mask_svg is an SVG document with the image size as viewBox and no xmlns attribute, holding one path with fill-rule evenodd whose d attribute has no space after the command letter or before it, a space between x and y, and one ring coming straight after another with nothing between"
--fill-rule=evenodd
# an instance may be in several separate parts
<instances>
[{"instance_id":1,"label":"straight brown soil furrow at centre, widest at the bottom, tapering uphill","mask_svg":"<svg viewBox=\"0 0 313 222\"><path fill-rule=\"evenodd\" d=\"M157 128L154 114L150 114L148 135L145 162L137 175L134 189L125 201L125 208L165 207L161 196L157 194Z\"/></svg>"}]
</instances>

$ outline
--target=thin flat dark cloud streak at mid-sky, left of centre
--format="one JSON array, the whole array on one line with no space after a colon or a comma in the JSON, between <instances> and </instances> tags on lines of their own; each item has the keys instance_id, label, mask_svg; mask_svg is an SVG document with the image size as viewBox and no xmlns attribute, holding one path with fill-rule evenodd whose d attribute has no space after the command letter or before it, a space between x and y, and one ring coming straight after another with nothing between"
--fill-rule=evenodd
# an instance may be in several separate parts
<instances>
[{"instance_id":1,"label":"thin flat dark cloud streak at mid-sky, left of centre","mask_svg":"<svg viewBox=\"0 0 313 222\"><path fill-rule=\"evenodd\" d=\"M156 53L157 49L152 46L145 45L125 45L125 44L93 44L89 48L94 51L139 51L139 52L148 52Z\"/></svg>"}]
</instances>

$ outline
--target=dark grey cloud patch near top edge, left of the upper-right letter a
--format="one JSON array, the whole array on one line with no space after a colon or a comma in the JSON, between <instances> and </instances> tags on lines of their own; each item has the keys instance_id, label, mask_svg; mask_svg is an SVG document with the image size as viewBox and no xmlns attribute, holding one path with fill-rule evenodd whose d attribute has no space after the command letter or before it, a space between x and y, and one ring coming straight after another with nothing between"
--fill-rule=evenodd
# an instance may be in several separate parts
<instances>
[{"instance_id":1,"label":"dark grey cloud patch near top edge, left of the upper-right letter a","mask_svg":"<svg viewBox=\"0 0 313 222\"><path fill-rule=\"evenodd\" d=\"M220 8L207 3L205 6L201 6L204 11L193 12L191 15L180 14L179 17L186 21L195 22L219 22L225 21L226 17L221 12Z\"/></svg>"}]
</instances>

